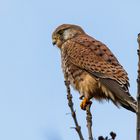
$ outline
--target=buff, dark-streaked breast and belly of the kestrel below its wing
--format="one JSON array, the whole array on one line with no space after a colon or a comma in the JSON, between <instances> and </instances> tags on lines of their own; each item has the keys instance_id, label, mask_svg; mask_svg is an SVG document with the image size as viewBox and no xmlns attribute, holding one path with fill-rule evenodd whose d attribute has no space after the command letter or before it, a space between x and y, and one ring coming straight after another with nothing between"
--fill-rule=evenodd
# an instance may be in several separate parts
<instances>
[{"instance_id":1,"label":"buff, dark-streaked breast and belly of the kestrel below its wing","mask_svg":"<svg viewBox=\"0 0 140 140\"><path fill-rule=\"evenodd\" d=\"M68 76L68 80L74 89L88 98L93 97L93 93L98 88L98 82L95 78L75 65L68 63L68 61L62 63L62 68L64 75Z\"/></svg>"}]
</instances>

